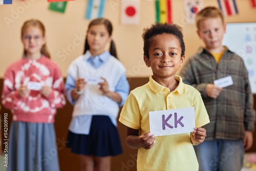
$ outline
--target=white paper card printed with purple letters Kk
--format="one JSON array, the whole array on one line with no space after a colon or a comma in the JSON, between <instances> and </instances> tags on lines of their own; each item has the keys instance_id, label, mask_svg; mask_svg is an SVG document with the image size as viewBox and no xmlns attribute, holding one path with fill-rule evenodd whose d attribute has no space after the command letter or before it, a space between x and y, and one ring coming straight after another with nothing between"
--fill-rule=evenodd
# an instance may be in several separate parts
<instances>
[{"instance_id":1,"label":"white paper card printed with purple letters Kk","mask_svg":"<svg viewBox=\"0 0 256 171\"><path fill-rule=\"evenodd\" d=\"M195 108L150 112L150 133L155 136L193 132Z\"/></svg>"}]
</instances>

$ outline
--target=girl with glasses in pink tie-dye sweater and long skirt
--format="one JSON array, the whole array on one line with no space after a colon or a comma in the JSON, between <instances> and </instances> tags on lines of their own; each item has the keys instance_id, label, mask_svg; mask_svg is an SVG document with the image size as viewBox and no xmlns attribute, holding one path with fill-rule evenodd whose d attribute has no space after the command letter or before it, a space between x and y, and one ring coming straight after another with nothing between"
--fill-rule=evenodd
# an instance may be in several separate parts
<instances>
[{"instance_id":1,"label":"girl with glasses in pink tie-dye sweater and long skirt","mask_svg":"<svg viewBox=\"0 0 256 171\"><path fill-rule=\"evenodd\" d=\"M27 20L23 57L6 70L2 104L12 112L7 170L59 170L54 116L66 104L59 67L46 48L45 27Z\"/></svg>"}]
</instances>

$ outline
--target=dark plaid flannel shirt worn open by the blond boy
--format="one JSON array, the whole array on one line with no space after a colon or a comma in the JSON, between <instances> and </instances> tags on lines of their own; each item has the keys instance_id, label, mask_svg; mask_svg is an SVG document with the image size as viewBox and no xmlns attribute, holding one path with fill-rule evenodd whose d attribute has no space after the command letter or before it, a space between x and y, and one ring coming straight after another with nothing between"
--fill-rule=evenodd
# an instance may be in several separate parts
<instances>
[{"instance_id":1,"label":"dark plaid flannel shirt worn open by the blond boy","mask_svg":"<svg viewBox=\"0 0 256 171\"><path fill-rule=\"evenodd\" d=\"M207 130L206 140L242 139L245 131L254 131L253 94L240 56L226 48L218 65L207 50L199 48L187 60L180 76L201 93L210 118L210 123L203 126ZM226 76L232 77L233 84L223 88L218 98L208 97L206 84Z\"/></svg>"}]
</instances>

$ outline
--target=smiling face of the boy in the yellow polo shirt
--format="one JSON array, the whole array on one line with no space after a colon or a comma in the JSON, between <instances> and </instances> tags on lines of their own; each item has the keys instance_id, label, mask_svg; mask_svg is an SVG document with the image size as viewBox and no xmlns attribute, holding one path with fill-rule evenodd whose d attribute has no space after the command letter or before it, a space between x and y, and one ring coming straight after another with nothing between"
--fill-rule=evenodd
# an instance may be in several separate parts
<instances>
[{"instance_id":1,"label":"smiling face of the boy in the yellow polo shirt","mask_svg":"<svg viewBox=\"0 0 256 171\"><path fill-rule=\"evenodd\" d=\"M149 58L144 56L144 61L147 67L151 67L154 79L175 78L184 61L180 42L173 34L163 33L153 37L148 55Z\"/></svg>"}]
</instances>

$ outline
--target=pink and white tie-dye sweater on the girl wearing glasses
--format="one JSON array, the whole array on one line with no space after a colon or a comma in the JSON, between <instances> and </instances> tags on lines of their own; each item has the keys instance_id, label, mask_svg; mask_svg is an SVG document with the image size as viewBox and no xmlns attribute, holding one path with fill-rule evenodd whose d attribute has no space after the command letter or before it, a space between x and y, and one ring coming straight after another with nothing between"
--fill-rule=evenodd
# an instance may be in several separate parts
<instances>
[{"instance_id":1,"label":"pink and white tie-dye sweater on the girl wearing glasses","mask_svg":"<svg viewBox=\"0 0 256 171\"><path fill-rule=\"evenodd\" d=\"M51 87L51 94L45 97L39 91L30 90L29 96L19 96L17 89L27 86L29 81ZM12 63L5 73L2 104L11 110L13 121L54 122L56 108L66 104L64 82L57 64L45 56L37 60L22 58Z\"/></svg>"}]
</instances>

